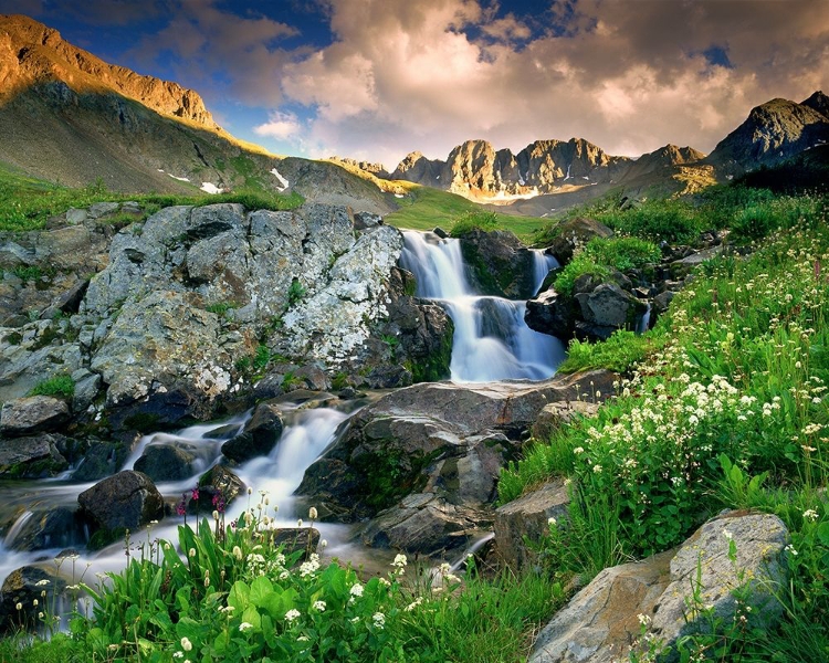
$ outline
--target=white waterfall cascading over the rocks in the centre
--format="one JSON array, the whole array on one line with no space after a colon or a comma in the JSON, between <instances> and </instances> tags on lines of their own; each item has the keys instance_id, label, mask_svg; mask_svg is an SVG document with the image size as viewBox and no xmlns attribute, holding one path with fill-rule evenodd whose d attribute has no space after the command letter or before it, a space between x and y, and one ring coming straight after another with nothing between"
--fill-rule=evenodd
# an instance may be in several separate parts
<instances>
[{"instance_id":1,"label":"white waterfall cascading over the rocks in the centre","mask_svg":"<svg viewBox=\"0 0 829 663\"><path fill-rule=\"evenodd\" d=\"M459 240L413 231L403 235L400 264L414 274L417 295L438 302L454 323L453 381L543 380L555 373L565 356L562 341L526 326L524 302L474 293ZM538 252L536 287L549 271L549 260Z\"/></svg>"}]
</instances>

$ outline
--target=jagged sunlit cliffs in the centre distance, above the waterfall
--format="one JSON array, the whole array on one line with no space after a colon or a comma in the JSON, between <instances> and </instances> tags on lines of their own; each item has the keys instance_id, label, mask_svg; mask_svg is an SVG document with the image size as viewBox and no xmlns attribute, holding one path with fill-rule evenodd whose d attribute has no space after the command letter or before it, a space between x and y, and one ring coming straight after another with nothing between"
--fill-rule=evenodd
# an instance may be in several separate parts
<instances>
[{"instance_id":1,"label":"jagged sunlit cliffs in the centre distance, above the waterfall","mask_svg":"<svg viewBox=\"0 0 829 663\"><path fill-rule=\"evenodd\" d=\"M563 185L598 185L621 176L632 160L612 157L584 138L536 140L514 155L486 140L468 140L445 161L411 152L391 173L453 193L475 197L549 193Z\"/></svg>"}]
</instances>

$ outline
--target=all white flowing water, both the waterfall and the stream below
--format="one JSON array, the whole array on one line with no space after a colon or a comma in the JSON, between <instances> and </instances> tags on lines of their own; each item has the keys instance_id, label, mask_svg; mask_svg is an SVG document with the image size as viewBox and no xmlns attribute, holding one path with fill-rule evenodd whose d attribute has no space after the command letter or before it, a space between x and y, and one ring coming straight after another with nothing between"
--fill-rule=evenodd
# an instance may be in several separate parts
<instances>
[{"instance_id":1,"label":"all white flowing water, both the waterfall and the stream below","mask_svg":"<svg viewBox=\"0 0 829 663\"><path fill-rule=\"evenodd\" d=\"M455 381L491 381L502 379L538 380L550 377L564 358L562 343L529 329L524 323L524 302L501 297L482 296L474 293L465 274L465 266L457 240L440 240L432 233L406 233L406 245L401 264L416 274L418 295L440 303L452 317L455 326L451 361L451 377ZM553 259L541 252L534 257L534 280L537 290ZM283 527L296 525L297 518L307 516L297 513L293 497L307 467L335 440L342 424L351 417L360 403L342 403L338 409L329 407L308 408L302 403L283 403L285 428L273 451L234 469L234 473L254 491L266 491L271 505L279 505L276 524ZM183 481L158 482L157 487L170 504L188 493L207 470L222 461L221 445L238 434L248 421L245 413L227 421L199 424L177 433L154 433L141 438L130 451L122 470L132 470L148 446L158 444L181 445L195 454L192 476ZM221 434L218 434L218 431ZM72 581L82 573L86 581L94 582L90 575L102 571L118 571L124 568L123 543L96 552L85 550L88 533L67 530L60 534L61 540L46 540L45 549L23 551L25 532L34 518L41 518L50 509L65 507L74 511L77 496L94 485L72 481L72 472L43 482L0 482L0 501L7 513L15 513L17 519L0 539L0 579L21 566L50 560L70 547L80 551L80 557L63 564L61 572ZM251 501L256 502L254 493ZM249 505L245 495L228 507L228 517L239 516ZM271 512L273 513L273 512ZM136 545L149 538L177 539L177 527L182 517L167 517L155 525L151 532L134 533ZM192 524L193 518L188 520ZM322 536L329 541L329 554L355 562L369 561L361 549L349 543L350 527L333 524L315 524ZM56 535L57 536L57 535ZM476 545L486 540L481 539ZM382 554L371 552L371 558L384 559ZM370 565L367 565L370 566Z\"/></svg>"}]
</instances>

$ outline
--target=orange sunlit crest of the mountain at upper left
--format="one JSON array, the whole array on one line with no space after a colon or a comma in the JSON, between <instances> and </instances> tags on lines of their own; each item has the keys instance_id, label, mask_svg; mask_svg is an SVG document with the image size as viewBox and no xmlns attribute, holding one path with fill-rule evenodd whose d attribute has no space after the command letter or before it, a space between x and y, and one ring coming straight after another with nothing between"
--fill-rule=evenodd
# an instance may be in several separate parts
<instances>
[{"instance_id":1,"label":"orange sunlit crest of the mountain at upper left","mask_svg":"<svg viewBox=\"0 0 829 663\"><path fill-rule=\"evenodd\" d=\"M49 83L63 83L76 93L116 93L161 115L219 128L192 90L108 64L29 17L0 14L0 98Z\"/></svg>"}]
</instances>

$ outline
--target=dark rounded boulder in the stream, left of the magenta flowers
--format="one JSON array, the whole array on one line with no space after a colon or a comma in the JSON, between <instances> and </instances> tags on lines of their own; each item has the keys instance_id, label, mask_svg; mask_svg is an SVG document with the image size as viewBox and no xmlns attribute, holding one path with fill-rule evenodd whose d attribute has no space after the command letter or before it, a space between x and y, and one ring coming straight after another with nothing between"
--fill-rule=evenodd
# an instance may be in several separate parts
<instances>
[{"instance_id":1,"label":"dark rounded boulder in the stream, left of the magenta flowers","mask_svg":"<svg viewBox=\"0 0 829 663\"><path fill-rule=\"evenodd\" d=\"M128 470L84 491L77 503L98 527L109 530L135 530L164 516L164 498L149 476Z\"/></svg>"}]
</instances>

